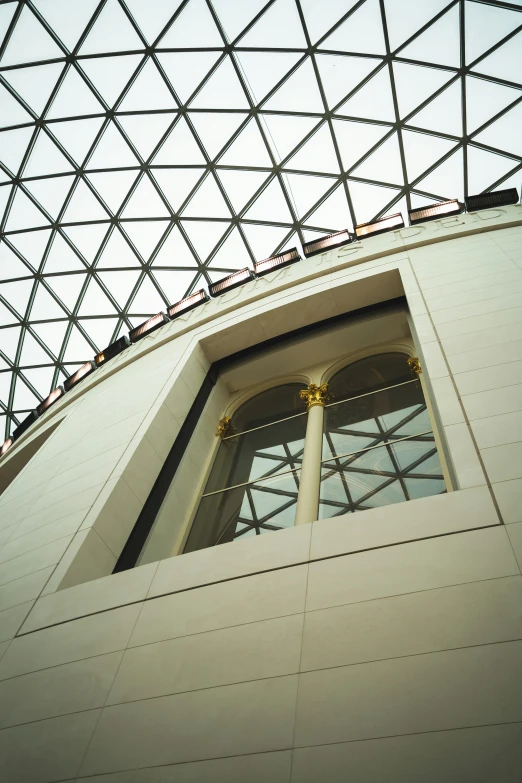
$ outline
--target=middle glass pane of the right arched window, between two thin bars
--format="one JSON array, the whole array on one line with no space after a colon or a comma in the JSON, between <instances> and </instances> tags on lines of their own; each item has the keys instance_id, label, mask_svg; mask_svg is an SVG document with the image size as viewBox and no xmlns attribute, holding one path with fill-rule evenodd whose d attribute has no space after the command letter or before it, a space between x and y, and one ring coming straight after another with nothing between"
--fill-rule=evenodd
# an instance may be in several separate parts
<instances>
[{"instance_id":1,"label":"middle glass pane of the right arched window, between two thin bars","mask_svg":"<svg viewBox=\"0 0 522 783\"><path fill-rule=\"evenodd\" d=\"M325 410L323 459L431 430L417 381L330 405Z\"/></svg>"}]
</instances>

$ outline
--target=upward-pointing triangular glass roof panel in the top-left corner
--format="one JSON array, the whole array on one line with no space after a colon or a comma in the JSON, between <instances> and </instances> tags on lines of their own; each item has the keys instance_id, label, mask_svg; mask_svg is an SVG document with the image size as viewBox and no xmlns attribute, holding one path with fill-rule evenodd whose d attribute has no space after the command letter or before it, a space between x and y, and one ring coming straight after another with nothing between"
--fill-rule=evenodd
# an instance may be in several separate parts
<instances>
[{"instance_id":1,"label":"upward-pointing triangular glass roof panel in the top-left corner","mask_svg":"<svg viewBox=\"0 0 522 783\"><path fill-rule=\"evenodd\" d=\"M58 57L63 57L62 50L55 44L29 6L24 5L0 63L2 66L18 65L40 60L56 60Z\"/></svg>"}]
</instances>

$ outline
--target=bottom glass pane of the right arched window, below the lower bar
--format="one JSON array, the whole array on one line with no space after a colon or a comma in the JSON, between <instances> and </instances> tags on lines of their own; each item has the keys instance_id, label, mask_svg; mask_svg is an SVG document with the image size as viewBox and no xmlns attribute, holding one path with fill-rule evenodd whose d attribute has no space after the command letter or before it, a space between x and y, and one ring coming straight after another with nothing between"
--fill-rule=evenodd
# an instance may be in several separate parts
<instances>
[{"instance_id":1,"label":"bottom glass pane of the right arched window, below the lower bar","mask_svg":"<svg viewBox=\"0 0 522 783\"><path fill-rule=\"evenodd\" d=\"M323 463L319 519L445 492L433 433Z\"/></svg>"}]
</instances>

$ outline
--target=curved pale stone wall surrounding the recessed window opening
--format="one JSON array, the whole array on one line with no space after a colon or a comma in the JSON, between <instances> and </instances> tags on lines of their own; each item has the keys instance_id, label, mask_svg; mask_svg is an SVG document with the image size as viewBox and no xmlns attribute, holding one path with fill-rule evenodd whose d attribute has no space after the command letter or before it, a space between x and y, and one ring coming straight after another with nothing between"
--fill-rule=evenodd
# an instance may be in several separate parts
<instances>
[{"instance_id":1,"label":"curved pale stone wall surrounding the recessed window opening","mask_svg":"<svg viewBox=\"0 0 522 783\"><path fill-rule=\"evenodd\" d=\"M63 418L0 497L3 778L518 783L521 238L511 207L304 261L20 440ZM109 575L210 362L401 290L457 491Z\"/></svg>"}]
</instances>

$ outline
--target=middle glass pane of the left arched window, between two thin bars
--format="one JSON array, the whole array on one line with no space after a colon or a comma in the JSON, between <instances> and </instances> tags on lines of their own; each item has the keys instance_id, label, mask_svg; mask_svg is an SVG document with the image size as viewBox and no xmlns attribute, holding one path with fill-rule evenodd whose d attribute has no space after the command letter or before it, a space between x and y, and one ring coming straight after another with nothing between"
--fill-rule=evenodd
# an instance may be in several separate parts
<instances>
[{"instance_id":1,"label":"middle glass pane of the left arched window, between two thin bars","mask_svg":"<svg viewBox=\"0 0 522 783\"><path fill-rule=\"evenodd\" d=\"M218 451L205 494L301 467L306 414L226 438Z\"/></svg>"}]
</instances>

